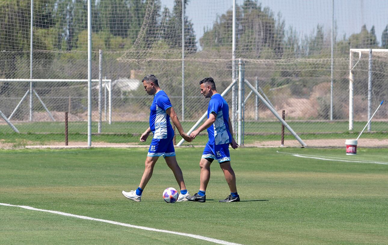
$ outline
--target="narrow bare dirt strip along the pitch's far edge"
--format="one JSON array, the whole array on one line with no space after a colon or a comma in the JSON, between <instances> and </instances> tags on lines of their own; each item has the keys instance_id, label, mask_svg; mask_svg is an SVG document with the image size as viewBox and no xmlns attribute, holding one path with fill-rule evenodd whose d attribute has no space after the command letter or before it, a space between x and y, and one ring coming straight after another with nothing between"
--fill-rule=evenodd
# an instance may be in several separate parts
<instances>
[{"instance_id":1,"label":"narrow bare dirt strip along the pitch's far edge","mask_svg":"<svg viewBox=\"0 0 388 245\"><path fill-rule=\"evenodd\" d=\"M345 149L344 139L326 139L326 140L304 140L308 147L338 147ZM256 141L255 143L245 144L245 147L279 147L280 140L276 141ZM145 147L149 146L136 145L136 143L106 143L92 142L93 147ZM296 140L285 140L284 147L300 147ZM49 142L46 145L36 145L36 142L24 142L23 145L15 143L4 143L0 141L0 148L86 148L87 142L69 142L66 147L64 142ZM195 146L197 147L197 146ZM203 146L198 146L203 147ZM388 139L361 139L358 147L388 147Z\"/></svg>"}]
</instances>

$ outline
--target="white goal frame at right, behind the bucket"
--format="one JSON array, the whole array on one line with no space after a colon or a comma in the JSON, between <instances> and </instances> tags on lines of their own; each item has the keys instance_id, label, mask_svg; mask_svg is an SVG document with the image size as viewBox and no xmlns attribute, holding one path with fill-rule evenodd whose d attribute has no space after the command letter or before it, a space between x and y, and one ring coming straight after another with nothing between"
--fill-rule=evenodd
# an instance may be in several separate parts
<instances>
[{"instance_id":1,"label":"white goal frame at right, behind the bucket","mask_svg":"<svg viewBox=\"0 0 388 245\"><path fill-rule=\"evenodd\" d=\"M349 130L353 130L353 95L354 95L354 74L353 69L357 66L363 55L368 55L368 121L371 118L372 107L372 54L386 53L388 49L380 48L350 48L349 52ZM358 55L358 60L353 62L353 55ZM356 56L357 57L357 56ZM371 131L371 123L368 124L368 131Z\"/></svg>"}]
</instances>

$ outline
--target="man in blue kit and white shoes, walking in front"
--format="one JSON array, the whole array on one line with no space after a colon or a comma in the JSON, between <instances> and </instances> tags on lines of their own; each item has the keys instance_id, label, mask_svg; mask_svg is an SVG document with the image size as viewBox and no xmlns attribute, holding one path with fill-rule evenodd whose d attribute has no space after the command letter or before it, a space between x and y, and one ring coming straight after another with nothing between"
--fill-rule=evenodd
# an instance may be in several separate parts
<instances>
[{"instance_id":1,"label":"man in blue kit and white shoes, walking in front","mask_svg":"<svg viewBox=\"0 0 388 245\"><path fill-rule=\"evenodd\" d=\"M182 125L171 105L170 99L165 91L159 88L158 79L154 75L149 74L143 78L142 83L144 90L149 95L153 95L154 100L150 107L149 128L140 136L140 141L145 142L151 132L154 134L154 137L149 146L147 159L145 160L145 170L139 187L135 191L123 191L122 193L126 198L135 202L140 202L142 192L149 179L151 179L155 163L159 157L163 156L167 166L173 171L175 179L180 187L180 194L177 202L187 201L186 197L189 195L189 192L186 190L182 170L178 166L177 159L175 158L173 144L174 130L170 123L170 117L182 138L188 142L191 142L191 138L183 131Z\"/></svg>"}]
</instances>

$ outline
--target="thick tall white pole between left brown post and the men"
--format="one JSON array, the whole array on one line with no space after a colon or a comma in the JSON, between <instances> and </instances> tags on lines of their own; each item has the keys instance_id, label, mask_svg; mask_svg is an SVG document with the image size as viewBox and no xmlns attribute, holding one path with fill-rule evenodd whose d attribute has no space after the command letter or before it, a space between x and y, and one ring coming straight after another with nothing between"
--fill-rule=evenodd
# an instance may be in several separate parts
<instances>
[{"instance_id":1,"label":"thick tall white pole between left brown post and the men","mask_svg":"<svg viewBox=\"0 0 388 245\"><path fill-rule=\"evenodd\" d=\"M88 146L92 146L92 1L88 0Z\"/></svg>"}]
</instances>

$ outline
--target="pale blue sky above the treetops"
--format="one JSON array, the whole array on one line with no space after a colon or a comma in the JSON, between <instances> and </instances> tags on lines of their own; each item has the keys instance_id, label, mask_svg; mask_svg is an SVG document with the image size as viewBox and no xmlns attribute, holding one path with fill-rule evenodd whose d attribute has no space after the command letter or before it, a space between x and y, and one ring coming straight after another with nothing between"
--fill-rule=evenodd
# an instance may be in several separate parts
<instances>
[{"instance_id":1,"label":"pale blue sky above the treetops","mask_svg":"<svg viewBox=\"0 0 388 245\"><path fill-rule=\"evenodd\" d=\"M161 0L162 6L173 7L173 0ZM237 0L241 4L243 0ZM331 32L332 0L262 0L263 7L281 12L286 29L292 26L300 34L311 35L317 24ZM186 15L194 24L197 39L203 35L203 28L213 25L217 15L232 8L232 0L190 0ZM374 25L376 36L381 44L381 33L388 24L388 1L386 0L334 0L334 21L338 26L337 39L344 34L348 37L359 33L366 24L370 30Z\"/></svg>"}]
</instances>

